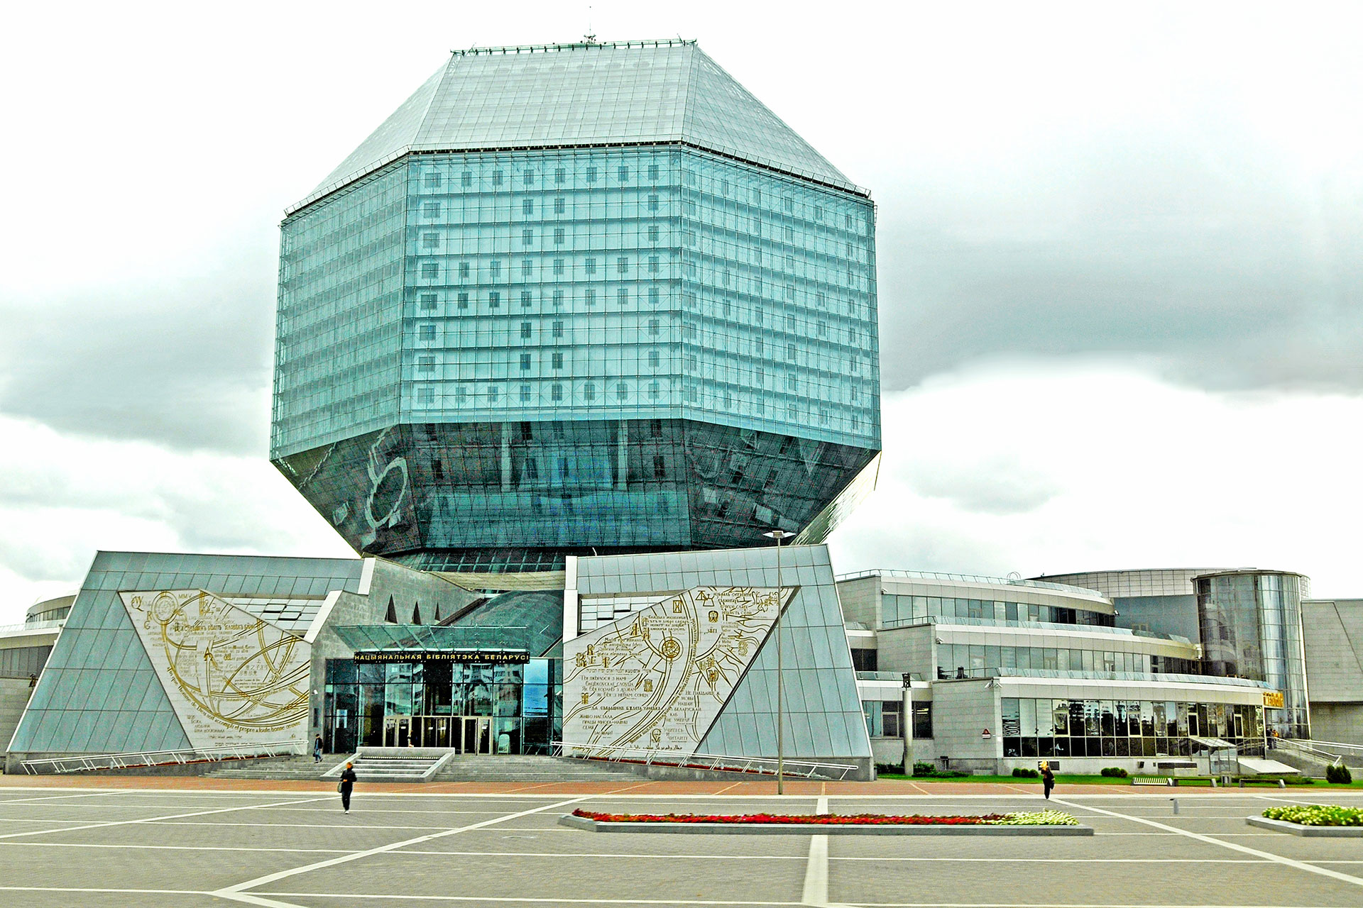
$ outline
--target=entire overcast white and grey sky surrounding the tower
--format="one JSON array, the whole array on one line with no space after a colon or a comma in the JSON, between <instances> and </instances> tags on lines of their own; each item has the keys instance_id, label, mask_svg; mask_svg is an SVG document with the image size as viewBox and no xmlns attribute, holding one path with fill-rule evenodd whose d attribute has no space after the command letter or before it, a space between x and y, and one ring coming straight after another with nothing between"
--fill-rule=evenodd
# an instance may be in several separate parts
<instances>
[{"instance_id":1,"label":"entire overcast white and grey sky surrounding the tower","mask_svg":"<svg viewBox=\"0 0 1363 908\"><path fill-rule=\"evenodd\" d=\"M199 10L7 12L0 623L97 549L349 553L266 460L282 210L451 48L589 23L698 38L872 189L886 455L840 569L1363 596L1363 7Z\"/></svg>"}]
</instances>

